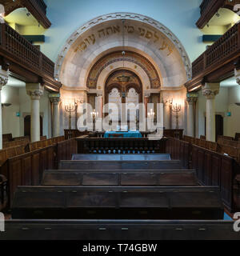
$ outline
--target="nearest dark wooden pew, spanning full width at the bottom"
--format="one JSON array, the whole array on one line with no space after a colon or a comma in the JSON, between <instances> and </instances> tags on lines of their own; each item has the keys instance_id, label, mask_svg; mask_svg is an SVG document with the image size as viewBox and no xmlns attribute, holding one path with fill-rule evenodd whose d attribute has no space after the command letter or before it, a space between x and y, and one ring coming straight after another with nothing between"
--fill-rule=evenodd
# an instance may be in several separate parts
<instances>
[{"instance_id":1,"label":"nearest dark wooden pew, spanning full width at the bottom","mask_svg":"<svg viewBox=\"0 0 240 256\"><path fill-rule=\"evenodd\" d=\"M6 220L0 240L239 240L233 221Z\"/></svg>"}]
</instances>

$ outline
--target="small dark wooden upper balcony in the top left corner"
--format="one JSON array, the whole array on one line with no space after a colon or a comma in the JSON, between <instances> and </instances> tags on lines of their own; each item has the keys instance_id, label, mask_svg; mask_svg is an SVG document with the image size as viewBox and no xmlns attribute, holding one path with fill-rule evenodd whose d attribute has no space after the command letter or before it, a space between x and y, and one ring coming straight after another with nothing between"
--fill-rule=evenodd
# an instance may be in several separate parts
<instances>
[{"instance_id":1,"label":"small dark wooden upper balcony in the top left corner","mask_svg":"<svg viewBox=\"0 0 240 256\"><path fill-rule=\"evenodd\" d=\"M46 17L47 6L43 0L18 0L14 2L12 0L2 0L1 3L5 7L5 15L18 8L26 7L45 29L51 26L50 20Z\"/></svg>"}]
</instances>

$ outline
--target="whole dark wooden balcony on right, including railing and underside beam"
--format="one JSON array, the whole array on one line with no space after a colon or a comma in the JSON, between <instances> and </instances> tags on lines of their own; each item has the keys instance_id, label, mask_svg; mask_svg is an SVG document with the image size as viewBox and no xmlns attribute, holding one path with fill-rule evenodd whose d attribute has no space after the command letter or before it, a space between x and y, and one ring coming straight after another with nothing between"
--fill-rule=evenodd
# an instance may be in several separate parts
<instances>
[{"instance_id":1,"label":"whole dark wooden balcony on right, including railing and underside beam","mask_svg":"<svg viewBox=\"0 0 240 256\"><path fill-rule=\"evenodd\" d=\"M240 23L235 24L192 63L192 80L186 82L191 90L203 79L220 82L234 74L234 65L240 57Z\"/></svg>"}]
</instances>

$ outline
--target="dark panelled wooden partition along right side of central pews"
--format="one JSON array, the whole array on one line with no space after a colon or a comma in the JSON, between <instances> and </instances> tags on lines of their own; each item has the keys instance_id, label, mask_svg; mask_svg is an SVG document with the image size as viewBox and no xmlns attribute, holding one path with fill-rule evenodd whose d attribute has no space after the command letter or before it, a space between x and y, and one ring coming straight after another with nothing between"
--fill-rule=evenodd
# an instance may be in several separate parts
<instances>
[{"instance_id":1,"label":"dark panelled wooden partition along right side of central pews","mask_svg":"<svg viewBox=\"0 0 240 256\"><path fill-rule=\"evenodd\" d=\"M171 154L172 159L181 160L184 167L196 170L198 182L203 186L219 186L222 202L228 210L240 210L240 187L238 188L236 181L240 166L236 159L208 150L203 145L194 145L194 142L190 137L188 142L168 138L166 153Z\"/></svg>"}]
</instances>

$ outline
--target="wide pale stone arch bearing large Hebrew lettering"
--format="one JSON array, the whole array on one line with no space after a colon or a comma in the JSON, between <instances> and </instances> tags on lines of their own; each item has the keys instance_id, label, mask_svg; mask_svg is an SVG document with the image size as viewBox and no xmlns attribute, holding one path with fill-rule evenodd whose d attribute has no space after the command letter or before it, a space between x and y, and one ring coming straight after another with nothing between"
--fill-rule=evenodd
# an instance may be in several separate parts
<instances>
[{"instance_id":1,"label":"wide pale stone arch bearing large Hebrew lettering","mask_svg":"<svg viewBox=\"0 0 240 256\"><path fill-rule=\"evenodd\" d=\"M86 87L84 79L92 63L103 53L122 48L122 18L126 19L126 49L152 62L163 87L179 88L190 79L190 60L178 38L160 22L129 13L102 15L76 30L58 55L55 78L65 86Z\"/></svg>"}]
</instances>

